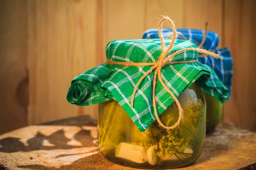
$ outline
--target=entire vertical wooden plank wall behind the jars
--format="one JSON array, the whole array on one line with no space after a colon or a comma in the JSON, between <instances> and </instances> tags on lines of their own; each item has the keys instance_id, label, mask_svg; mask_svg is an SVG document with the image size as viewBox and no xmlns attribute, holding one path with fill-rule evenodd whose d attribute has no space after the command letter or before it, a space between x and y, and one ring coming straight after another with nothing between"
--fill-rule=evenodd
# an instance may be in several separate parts
<instances>
[{"instance_id":1,"label":"entire vertical wooden plank wall behind the jars","mask_svg":"<svg viewBox=\"0 0 256 170\"><path fill-rule=\"evenodd\" d=\"M82 114L97 117L97 105L77 107L66 101L70 81L76 75L104 62L104 49L109 41L139 39L146 29L157 28L159 18L163 14L175 20L177 27L204 29L204 23L208 21L209 30L217 32L220 36L219 47L230 47L235 75L231 99L224 105L223 119L256 130L256 109L250 97L256 95L253 88L253 31L256 30L254 0L15 2L14 4L3 0L0 7L5 8L0 9L0 81L3 82L0 90L6 96L9 92L3 89L12 89L10 99L1 98L0 105L3 109L0 125L5 125L3 122L10 119L15 124L10 124L10 127L6 127L2 132L23 125ZM17 23L20 23L19 28L15 27ZM17 52L16 56L12 54L14 51ZM13 65L12 61L17 65ZM13 97L20 81L26 80L26 65L29 77L29 114L26 107L15 102ZM6 77L2 76L10 68L15 68L16 72L9 71ZM15 83L9 86L11 80L6 80L12 74L18 76L12 80ZM24 96L24 93L19 94ZM4 112L8 114L4 115Z\"/></svg>"}]
</instances>

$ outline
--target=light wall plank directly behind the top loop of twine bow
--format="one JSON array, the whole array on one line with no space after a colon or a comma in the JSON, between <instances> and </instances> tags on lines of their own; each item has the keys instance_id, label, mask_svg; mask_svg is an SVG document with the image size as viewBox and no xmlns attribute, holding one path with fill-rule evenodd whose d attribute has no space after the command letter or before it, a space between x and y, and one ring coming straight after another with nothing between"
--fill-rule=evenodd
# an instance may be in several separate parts
<instances>
[{"instance_id":1,"label":"light wall plank directly behind the top loop of twine bow","mask_svg":"<svg viewBox=\"0 0 256 170\"><path fill-rule=\"evenodd\" d=\"M183 0L145 0L145 30L158 28L161 15L167 15L175 21L176 28L183 28ZM170 28L168 23L163 28Z\"/></svg>"}]
</instances>

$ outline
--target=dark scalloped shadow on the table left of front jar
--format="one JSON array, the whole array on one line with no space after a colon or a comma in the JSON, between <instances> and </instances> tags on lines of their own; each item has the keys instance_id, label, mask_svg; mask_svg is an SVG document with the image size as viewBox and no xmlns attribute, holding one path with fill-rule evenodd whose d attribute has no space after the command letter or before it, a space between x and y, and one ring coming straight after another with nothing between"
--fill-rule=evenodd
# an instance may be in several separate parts
<instances>
[{"instance_id":1,"label":"dark scalloped shadow on the table left of front jar","mask_svg":"<svg viewBox=\"0 0 256 170\"><path fill-rule=\"evenodd\" d=\"M20 138L7 137L0 139L0 152L5 153L14 153L14 152L29 152L33 150L54 150L54 149L72 149L72 148L81 148L81 147L97 147L96 144L93 144L93 138L90 135L90 130L81 129L77 132L73 139L77 142L80 142L80 146L72 146L69 145L68 142L71 139L68 139L64 130L58 130L52 133L49 136L44 135L41 132L37 132L36 136L27 140L27 144L25 145L23 142L20 142Z\"/></svg>"}]
</instances>

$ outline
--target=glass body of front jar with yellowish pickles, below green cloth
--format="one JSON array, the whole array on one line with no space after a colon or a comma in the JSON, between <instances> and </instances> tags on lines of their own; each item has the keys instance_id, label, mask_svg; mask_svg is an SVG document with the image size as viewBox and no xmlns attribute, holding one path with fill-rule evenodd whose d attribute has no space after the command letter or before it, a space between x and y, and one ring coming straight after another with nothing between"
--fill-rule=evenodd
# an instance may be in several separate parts
<instances>
[{"instance_id":1,"label":"glass body of front jar with yellowish pickles, below green cloth","mask_svg":"<svg viewBox=\"0 0 256 170\"><path fill-rule=\"evenodd\" d=\"M185 117L179 127L166 130L155 121L145 132L138 130L116 101L100 103L98 139L102 154L116 164L145 169L183 167L194 162L204 146L204 96L195 82L178 100ZM173 103L159 117L164 125L171 126L178 116Z\"/></svg>"}]
</instances>

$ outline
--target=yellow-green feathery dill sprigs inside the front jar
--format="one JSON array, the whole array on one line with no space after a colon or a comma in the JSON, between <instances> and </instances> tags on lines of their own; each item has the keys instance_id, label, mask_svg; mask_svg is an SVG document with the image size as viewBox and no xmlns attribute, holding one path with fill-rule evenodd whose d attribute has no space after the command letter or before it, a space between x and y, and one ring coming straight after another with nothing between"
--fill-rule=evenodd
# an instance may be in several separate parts
<instances>
[{"instance_id":1,"label":"yellow-green feathery dill sprigs inside the front jar","mask_svg":"<svg viewBox=\"0 0 256 170\"><path fill-rule=\"evenodd\" d=\"M193 100L193 99L192 99ZM194 101L190 102L189 111L191 114L190 123L192 129L198 130L200 122L204 118L202 113L204 111L204 102L201 97L195 98ZM163 116L160 116L160 120L163 122ZM166 122L166 126L172 126L177 121L175 115L170 116ZM181 128L185 128L191 133L190 136L184 137ZM148 149L151 146L155 147L157 156L163 158L164 156L175 155L178 159L189 159L190 153L184 153L186 147L194 150L198 145L199 141L195 134L191 130L184 126L175 127L174 129L163 129L157 121L151 126L151 136L146 140L139 143L144 149ZM194 140L195 138L195 140ZM192 144L193 142L193 144Z\"/></svg>"}]
</instances>

